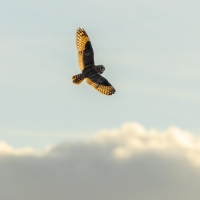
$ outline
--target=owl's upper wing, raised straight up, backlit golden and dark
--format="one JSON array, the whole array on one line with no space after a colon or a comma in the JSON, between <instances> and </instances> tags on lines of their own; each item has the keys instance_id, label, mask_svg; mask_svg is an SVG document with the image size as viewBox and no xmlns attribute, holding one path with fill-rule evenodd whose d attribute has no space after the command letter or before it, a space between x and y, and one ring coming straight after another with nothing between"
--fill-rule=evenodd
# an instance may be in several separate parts
<instances>
[{"instance_id":1,"label":"owl's upper wing, raised straight up, backlit golden and dark","mask_svg":"<svg viewBox=\"0 0 200 200\"><path fill-rule=\"evenodd\" d=\"M78 28L76 31L76 47L78 51L78 64L81 71L89 65L94 65L92 44L83 28Z\"/></svg>"}]
</instances>

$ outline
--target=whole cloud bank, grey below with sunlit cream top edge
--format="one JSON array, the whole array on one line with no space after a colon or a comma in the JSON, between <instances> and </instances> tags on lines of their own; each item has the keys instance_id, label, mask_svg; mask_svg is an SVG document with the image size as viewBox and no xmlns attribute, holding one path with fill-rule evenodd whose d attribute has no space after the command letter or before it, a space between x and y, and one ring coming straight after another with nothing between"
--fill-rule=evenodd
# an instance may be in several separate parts
<instances>
[{"instance_id":1,"label":"whole cloud bank, grey below with sunlit cream top edge","mask_svg":"<svg viewBox=\"0 0 200 200\"><path fill-rule=\"evenodd\" d=\"M188 200L200 198L200 138L126 123L90 142L38 151L0 143L6 200Z\"/></svg>"}]
</instances>

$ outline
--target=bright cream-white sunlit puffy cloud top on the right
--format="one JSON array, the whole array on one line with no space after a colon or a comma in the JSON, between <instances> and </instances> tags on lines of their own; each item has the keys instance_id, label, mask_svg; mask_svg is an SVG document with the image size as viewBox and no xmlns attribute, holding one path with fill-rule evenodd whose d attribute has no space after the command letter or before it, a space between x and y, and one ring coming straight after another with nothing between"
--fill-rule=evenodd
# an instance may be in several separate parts
<instances>
[{"instance_id":1,"label":"bright cream-white sunlit puffy cloud top on the right","mask_svg":"<svg viewBox=\"0 0 200 200\"><path fill-rule=\"evenodd\" d=\"M104 145L115 144L112 152L118 158L149 151L180 153L186 159L192 159L192 164L200 165L200 138L176 127L158 132L147 131L137 123L126 123L119 130L102 131L95 136L95 141Z\"/></svg>"}]
</instances>

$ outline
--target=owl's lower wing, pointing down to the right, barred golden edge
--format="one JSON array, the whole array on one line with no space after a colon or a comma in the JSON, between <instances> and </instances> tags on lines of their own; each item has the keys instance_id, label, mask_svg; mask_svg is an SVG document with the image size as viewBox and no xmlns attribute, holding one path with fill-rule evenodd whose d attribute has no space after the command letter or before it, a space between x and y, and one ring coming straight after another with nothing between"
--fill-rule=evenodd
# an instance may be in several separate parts
<instances>
[{"instance_id":1,"label":"owl's lower wing, pointing down to the right, barred golden edge","mask_svg":"<svg viewBox=\"0 0 200 200\"><path fill-rule=\"evenodd\" d=\"M112 95L116 92L115 88L100 74L86 78L86 82L102 94Z\"/></svg>"}]
</instances>

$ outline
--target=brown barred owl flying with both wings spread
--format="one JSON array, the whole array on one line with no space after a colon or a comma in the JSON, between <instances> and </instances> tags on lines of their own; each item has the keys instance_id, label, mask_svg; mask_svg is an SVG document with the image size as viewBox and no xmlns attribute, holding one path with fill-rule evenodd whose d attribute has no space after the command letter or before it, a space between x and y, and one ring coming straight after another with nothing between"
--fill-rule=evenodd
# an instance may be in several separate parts
<instances>
[{"instance_id":1,"label":"brown barred owl flying with both wings spread","mask_svg":"<svg viewBox=\"0 0 200 200\"><path fill-rule=\"evenodd\" d=\"M76 47L78 51L78 64L81 73L72 77L72 82L80 84L84 80L105 95L114 94L115 88L101 74L104 72L103 65L94 64L94 51L90 38L83 28L78 28L76 31Z\"/></svg>"}]
</instances>

